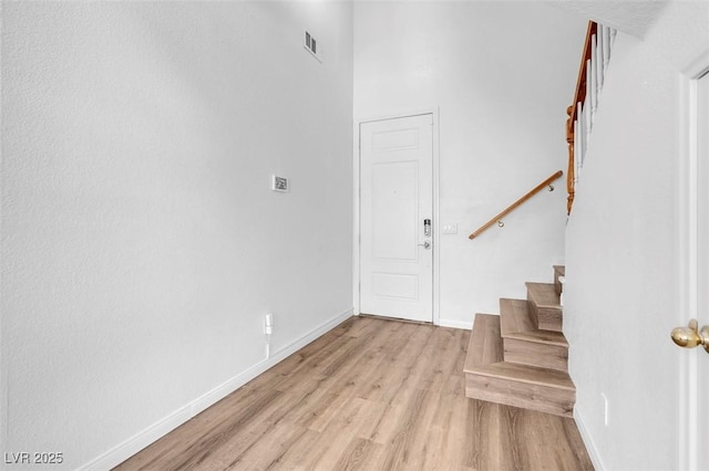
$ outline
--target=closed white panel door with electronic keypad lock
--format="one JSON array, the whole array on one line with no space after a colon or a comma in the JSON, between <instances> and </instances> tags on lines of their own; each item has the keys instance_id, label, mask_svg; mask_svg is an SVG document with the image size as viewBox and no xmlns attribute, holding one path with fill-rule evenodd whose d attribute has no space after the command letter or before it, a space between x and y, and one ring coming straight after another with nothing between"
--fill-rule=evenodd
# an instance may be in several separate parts
<instances>
[{"instance_id":1,"label":"closed white panel door with electronic keypad lock","mask_svg":"<svg viewBox=\"0 0 709 471\"><path fill-rule=\"evenodd\" d=\"M360 124L360 312L432 322L431 114Z\"/></svg>"}]
</instances>

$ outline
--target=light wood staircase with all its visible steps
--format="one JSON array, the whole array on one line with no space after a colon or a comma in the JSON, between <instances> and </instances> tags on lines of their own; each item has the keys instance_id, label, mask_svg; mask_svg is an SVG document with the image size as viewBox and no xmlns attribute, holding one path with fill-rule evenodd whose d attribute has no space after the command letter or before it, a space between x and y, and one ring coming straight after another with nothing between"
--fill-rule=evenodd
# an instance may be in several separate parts
<instances>
[{"instance_id":1,"label":"light wood staircase with all its visible steps","mask_svg":"<svg viewBox=\"0 0 709 471\"><path fill-rule=\"evenodd\" d=\"M465 396L573 417L576 388L554 283L526 283L527 299L500 300L500 315L476 314L465 357Z\"/></svg>"}]
</instances>

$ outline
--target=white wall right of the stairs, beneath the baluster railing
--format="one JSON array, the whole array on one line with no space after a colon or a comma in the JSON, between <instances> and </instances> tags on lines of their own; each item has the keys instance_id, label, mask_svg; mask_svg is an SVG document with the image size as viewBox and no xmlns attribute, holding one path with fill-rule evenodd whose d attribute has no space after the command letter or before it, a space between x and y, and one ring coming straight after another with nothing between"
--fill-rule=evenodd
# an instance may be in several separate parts
<instances>
[{"instance_id":1,"label":"white wall right of the stairs, beneath the baluster railing","mask_svg":"<svg viewBox=\"0 0 709 471\"><path fill-rule=\"evenodd\" d=\"M709 49L708 24L708 4L672 2L645 40L618 33L576 188L564 331L576 415L607 470L680 462L679 72Z\"/></svg>"}]
</instances>

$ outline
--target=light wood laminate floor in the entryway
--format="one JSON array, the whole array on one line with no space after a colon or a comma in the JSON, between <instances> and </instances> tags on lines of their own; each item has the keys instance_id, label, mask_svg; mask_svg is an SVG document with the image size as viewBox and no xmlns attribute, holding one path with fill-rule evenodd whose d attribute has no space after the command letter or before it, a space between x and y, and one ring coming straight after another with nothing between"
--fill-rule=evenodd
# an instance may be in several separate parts
<instances>
[{"instance_id":1,"label":"light wood laminate floor in the entryway","mask_svg":"<svg viewBox=\"0 0 709 471\"><path fill-rule=\"evenodd\" d=\"M117 470L592 470L573 419L465 398L470 332L352 317Z\"/></svg>"}]
</instances>

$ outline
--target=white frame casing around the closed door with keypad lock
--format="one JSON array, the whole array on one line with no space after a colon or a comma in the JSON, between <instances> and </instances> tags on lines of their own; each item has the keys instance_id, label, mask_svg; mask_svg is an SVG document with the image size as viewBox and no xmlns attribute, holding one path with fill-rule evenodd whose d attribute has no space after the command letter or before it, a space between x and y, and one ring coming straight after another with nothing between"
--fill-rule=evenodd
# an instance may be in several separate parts
<instances>
[{"instance_id":1,"label":"white frame casing around the closed door with keypad lock","mask_svg":"<svg viewBox=\"0 0 709 471\"><path fill-rule=\"evenodd\" d=\"M360 117L356 118L353 123L353 133L352 133L352 306L354 307L354 315L360 314L360 197L361 197L361 153L360 153L360 133L362 124L378 122L378 121L387 121L387 119L398 119L398 118L407 118L413 116L422 116L422 115L431 115L433 121L433 127L431 129L433 137L433 149L432 149L432 159L433 159L433 169L432 169L432 178L433 178L433 312L432 312L432 321L433 325L440 325L441 313L440 313L440 240L441 240L441 223L440 223L440 207L439 207L439 182L440 182L440 159L439 159L439 108L428 108L422 111L414 111L410 113L397 113L392 115L384 116L373 116L373 117Z\"/></svg>"}]
</instances>

